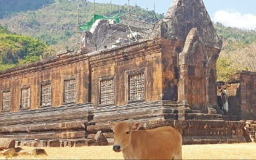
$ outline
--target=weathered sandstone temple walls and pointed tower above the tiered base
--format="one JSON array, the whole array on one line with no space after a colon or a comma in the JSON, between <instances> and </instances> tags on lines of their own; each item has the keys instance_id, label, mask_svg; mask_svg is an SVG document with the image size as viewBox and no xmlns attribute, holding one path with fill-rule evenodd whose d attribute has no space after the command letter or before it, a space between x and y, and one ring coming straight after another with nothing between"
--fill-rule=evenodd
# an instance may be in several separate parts
<instances>
[{"instance_id":1,"label":"weathered sandstone temple walls and pointed tower above the tiered base","mask_svg":"<svg viewBox=\"0 0 256 160\"><path fill-rule=\"evenodd\" d=\"M10 95L12 111L23 108L20 105L23 101L28 104L26 109L40 108L41 86L51 84L52 94L45 93L52 98L48 106L92 102L98 108L138 101L172 100L186 102L181 106L183 108L188 107L188 102L197 113L216 113L216 60L222 40L202 0L173 1L164 19L149 25L152 34L145 36L147 39L133 37L136 40L128 40L127 28L122 25L119 30L117 27L113 28L117 29L115 31L110 29L111 35L109 29L100 27L105 22L100 22L93 33L86 32L89 34L86 38L91 40L86 39L86 42L91 44L83 48L90 50L95 46L95 49L104 50L61 53L53 60L49 58L3 72L0 97L4 105L1 108L8 106ZM138 23L128 26L129 29L130 26L134 29L142 27L138 32L148 30ZM126 44L109 48L109 40L124 40ZM69 83L76 84L70 87ZM69 86L64 87L66 84ZM71 98L65 96L64 90ZM31 99L23 99L22 94Z\"/></svg>"}]
</instances>

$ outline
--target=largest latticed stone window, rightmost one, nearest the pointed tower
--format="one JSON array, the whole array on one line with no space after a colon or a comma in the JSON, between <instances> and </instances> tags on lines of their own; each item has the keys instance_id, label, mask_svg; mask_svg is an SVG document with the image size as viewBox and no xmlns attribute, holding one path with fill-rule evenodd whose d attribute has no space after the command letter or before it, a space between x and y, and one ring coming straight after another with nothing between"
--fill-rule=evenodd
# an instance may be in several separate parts
<instances>
[{"instance_id":1,"label":"largest latticed stone window, rightmost one, nearest the pointed tower","mask_svg":"<svg viewBox=\"0 0 256 160\"><path fill-rule=\"evenodd\" d=\"M128 73L128 101L145 100L144 70Z\"/></svg>"}]
</instances>

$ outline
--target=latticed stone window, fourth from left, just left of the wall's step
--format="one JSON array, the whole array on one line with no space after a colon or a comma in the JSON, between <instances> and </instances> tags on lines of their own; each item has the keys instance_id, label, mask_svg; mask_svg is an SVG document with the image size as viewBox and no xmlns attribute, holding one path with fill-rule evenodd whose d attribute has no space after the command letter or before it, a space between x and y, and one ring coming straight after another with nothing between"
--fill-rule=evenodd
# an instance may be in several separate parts
<instances>
[{"instance_id":1,"label":"latticed stone window, fourth from left, just left of the wall's step","mask_svg":"<svg viewBox=\"0 0 256 160\"><path fill-rule=\"evenodd\" d=\"M65 79L64 80L64 103L76 102L76 79Z\"/></svg>"}]
</instances>

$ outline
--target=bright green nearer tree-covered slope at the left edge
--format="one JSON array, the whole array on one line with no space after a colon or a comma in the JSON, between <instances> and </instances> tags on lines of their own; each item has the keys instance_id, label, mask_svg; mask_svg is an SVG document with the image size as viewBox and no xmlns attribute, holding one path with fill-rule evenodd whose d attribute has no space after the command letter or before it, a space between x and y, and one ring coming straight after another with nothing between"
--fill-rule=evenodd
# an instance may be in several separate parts
<instances>
[{"instance_id":1,"label":"bright green nearer tree-covered slope at the left edge","mask_svg":"<svg viewBox=\"0 0 256 160\"><path fill-rule=\"evenodd\" d=\"M0 26L0 70L38 61L54 51L44 42Z\"/></svg>"}]
</instances>

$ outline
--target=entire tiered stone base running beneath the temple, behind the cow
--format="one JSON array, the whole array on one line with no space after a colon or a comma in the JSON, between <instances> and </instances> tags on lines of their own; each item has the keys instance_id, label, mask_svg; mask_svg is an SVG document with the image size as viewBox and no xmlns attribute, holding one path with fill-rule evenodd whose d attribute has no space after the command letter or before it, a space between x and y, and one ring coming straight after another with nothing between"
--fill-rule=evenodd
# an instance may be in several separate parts
<instances>
[{"instance_id":1,"label":"entire tiered stone base running beneath the temple, behind the cow","mask_svg":"<svg viewBox=\"0 0 256 160\"><path fill-rule=\"evenodd\" d=\"M124 106L69 104L0 114L0 137L14 138L17 146L77 147L95 145L98 131L109 143L113 134L108 120L141 122L142 129L170 125L177 128L183 144L245 142L245 122L224 121L223 115L191 110L186 102L134 102Z\"/></svg>"}]
</instances>

